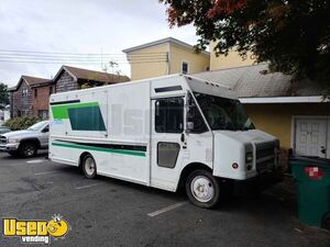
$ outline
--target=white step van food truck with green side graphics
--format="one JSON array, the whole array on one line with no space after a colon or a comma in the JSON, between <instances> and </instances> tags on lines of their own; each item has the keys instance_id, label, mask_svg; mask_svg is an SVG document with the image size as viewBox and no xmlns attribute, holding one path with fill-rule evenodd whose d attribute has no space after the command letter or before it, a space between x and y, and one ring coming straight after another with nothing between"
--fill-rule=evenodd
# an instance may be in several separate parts
<instances>
[{"instance_id":1,"label":"white step van food truck with green side graphics","mask_svg":"<svg viewBox=\"0 0 330 247\"><path fill-rule=\"evenodd\" d=\"M52 94L50 116L52 161L87 178L185 187L201 207L228 184L280 175L278 141L254 128L235 92L186 75Z\"/></svg>"}]
</instances>

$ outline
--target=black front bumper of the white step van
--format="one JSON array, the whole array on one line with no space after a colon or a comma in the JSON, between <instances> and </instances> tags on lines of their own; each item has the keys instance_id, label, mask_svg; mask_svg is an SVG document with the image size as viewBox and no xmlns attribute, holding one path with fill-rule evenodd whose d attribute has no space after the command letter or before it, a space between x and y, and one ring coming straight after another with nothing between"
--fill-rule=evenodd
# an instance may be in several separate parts
<instances>
[{"instance_id":1,"label":"black front bumper of the white step van","mask_svg":"<svg viewBox=\"0 0 330 247\"><path fill-rule=\"evenodd\" d=\"M257 176L246 180L234 180L234 194L249 195L266 190L284 179L282 167L274 170L258 173Z\"/></svg>"}]
</instances>

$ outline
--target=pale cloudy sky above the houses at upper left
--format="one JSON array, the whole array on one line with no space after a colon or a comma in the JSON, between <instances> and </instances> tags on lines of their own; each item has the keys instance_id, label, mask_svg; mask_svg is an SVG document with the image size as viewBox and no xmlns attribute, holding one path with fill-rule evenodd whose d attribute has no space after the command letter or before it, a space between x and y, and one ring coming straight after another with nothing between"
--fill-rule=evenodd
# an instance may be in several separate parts
<instances>
[{"instance_id":1,"label":"pale cloudy sky above the houses at upper left","mask_svg":"<svg viewBox=\"0 0 330 247\"><path fill-rule=\"evenodd\" d=\"M195 27L169 29L165 11L166 7L158 0L1 0L0 81L12 87L21 75L53 78L62 66L46 64L47 58L16 63L22 57L16 52L14 56L9 55L7 50L113 54L113 59L108 55L111 58L102 60L103 67L111 59L118 66L108 72L121 70L130 76L122 49L169 36L196 44ZM69 65L102 69L99 61Z\"/></svg>"}]
</instances>

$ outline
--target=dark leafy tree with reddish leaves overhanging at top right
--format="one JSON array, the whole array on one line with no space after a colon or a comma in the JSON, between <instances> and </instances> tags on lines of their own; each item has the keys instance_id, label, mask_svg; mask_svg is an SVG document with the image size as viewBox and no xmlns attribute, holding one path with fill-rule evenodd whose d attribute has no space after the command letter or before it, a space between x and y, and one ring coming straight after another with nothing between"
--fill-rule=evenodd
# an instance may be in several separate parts
<instances>
[{"instance_id":1,"label":"dark leafy tree with reddish leaves overhanging at top right","mask_svg":"<svg viewBox=\"0 0 330 247\"><path fill-rule=\"evenodd\" d=\"M217 55L237 49L271 71L316 80L330 89L328 0L160 0L170 26L194 23L197 47L217 42Z\"/></svg>"}]
</instances>

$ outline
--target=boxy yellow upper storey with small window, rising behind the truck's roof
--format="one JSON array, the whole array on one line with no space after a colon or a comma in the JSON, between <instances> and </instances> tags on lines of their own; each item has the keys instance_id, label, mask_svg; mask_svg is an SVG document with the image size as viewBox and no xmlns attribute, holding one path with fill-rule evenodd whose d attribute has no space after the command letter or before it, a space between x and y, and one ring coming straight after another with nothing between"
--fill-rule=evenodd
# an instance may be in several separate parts
<instances>
[{"instance_id":1,"label":"boxy yellow upper storey with small window, rising behind the truck's roof","mask_svg":"<svg viewBox=\"0 0 330 247\"><path fill-rule=\"evenodd\" d=\"M210 54L167 37L122 50L131 65L131 80L170 74L195 74L210 68Z\"/></svg>"}]
</instances>

